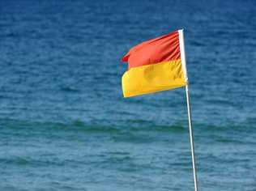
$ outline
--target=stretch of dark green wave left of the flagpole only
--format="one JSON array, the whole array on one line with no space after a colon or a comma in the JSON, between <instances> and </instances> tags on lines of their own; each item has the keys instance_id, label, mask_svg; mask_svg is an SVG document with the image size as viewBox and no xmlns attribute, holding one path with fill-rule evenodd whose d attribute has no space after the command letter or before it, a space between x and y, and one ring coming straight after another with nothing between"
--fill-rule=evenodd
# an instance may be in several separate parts
<instances>
[{"instance_id":1,"label":"stretch of dark green wave left of the flagpole only","mask_svg":"<svg viewBox=\"0 0 256 191\"><path fill-rule=\"evenodd\" d=\"M148 121L123 121L116 125L108 124L108 121L84 122L84 121L24 121L11 118L0 118L2 129L55 129L55 130L79 130L87 133L121 133L124 131L183 131L181 125L155 125ZM126 124L126 125L125 125ZM139 125L140 124L140 125Z\"/></svg>"}]
</instances>

